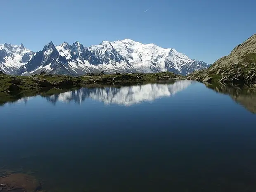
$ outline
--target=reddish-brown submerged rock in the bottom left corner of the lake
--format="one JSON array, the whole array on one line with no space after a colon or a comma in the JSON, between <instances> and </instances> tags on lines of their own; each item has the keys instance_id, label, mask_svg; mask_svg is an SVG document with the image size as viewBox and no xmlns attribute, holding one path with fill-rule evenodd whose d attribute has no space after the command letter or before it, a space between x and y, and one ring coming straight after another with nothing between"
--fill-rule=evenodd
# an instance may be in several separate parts
<instances>
[{"instance_id":1,"label":"reddish-brown submerged rock in the bottom left corner of the lake","mask_svg":"<svg viewBox=\"0 0 256 192\"><path fill-rule=\"evenodd\" d=\"M6 177L0 178L0 183L4 183L2 191L12 192L35 192L42 188L40 182L33 176L13 173Z\"/></svg>"}]
</instances>

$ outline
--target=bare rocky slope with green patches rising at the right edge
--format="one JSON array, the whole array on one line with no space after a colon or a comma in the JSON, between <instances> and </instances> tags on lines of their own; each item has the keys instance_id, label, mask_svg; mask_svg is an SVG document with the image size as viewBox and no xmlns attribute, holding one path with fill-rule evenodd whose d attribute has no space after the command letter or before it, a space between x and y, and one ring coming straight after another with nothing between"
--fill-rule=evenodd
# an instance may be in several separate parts
<instances>
[{"instance_id":1,"label":"bare rocky slope with green patches rising at the right edge","mask_svg":"<svg viewBox=\"0 0 256 192\"><path fill-rule=\"evenodd\" d=\"M209 69L196 71L188 79L254 85L256 83L256 34L237 45L230 55L218 59Z\"/></svg>"}]
</instances>

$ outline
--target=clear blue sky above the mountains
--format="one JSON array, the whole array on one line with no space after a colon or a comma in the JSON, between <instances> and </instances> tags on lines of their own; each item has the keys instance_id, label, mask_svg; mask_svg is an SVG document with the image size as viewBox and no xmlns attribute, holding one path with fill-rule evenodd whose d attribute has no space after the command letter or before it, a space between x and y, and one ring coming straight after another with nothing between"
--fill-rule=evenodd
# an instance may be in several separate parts
<instances>
[{"instance_id":1,"label":"clear blue sky above the mountains","mask_svg":"<svg viewBox=\"0 0 256 192\"><path fill-rule=\"evenodd\" d=\"M255 7L256 0L1 0L0 44L39 51L50 41L130 38L211 64L256 33Z\"/></svg>"}]
</instances>

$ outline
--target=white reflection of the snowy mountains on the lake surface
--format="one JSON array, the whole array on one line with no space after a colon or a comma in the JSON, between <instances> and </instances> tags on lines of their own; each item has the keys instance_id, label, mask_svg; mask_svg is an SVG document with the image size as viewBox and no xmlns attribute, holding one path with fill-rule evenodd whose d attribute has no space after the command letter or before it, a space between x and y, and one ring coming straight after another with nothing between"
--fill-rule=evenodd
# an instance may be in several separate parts
<instances>
[{"instance_id":1,"label":"white reflection of the snowy mountains on the lake surface","mask_svg":"<svg viewBox=\"0 0 256 192\"><path fill-rule=\"evenodd\" d=\"M171 97L186 89L193 81L181 80L173 84L133 85L121 88L81 88L69 92L47 96L49 102L76 102L81 104L86 99L102 101L104 104L133 105L154 101L161 97Z\"/></svg>"}]
</instances>

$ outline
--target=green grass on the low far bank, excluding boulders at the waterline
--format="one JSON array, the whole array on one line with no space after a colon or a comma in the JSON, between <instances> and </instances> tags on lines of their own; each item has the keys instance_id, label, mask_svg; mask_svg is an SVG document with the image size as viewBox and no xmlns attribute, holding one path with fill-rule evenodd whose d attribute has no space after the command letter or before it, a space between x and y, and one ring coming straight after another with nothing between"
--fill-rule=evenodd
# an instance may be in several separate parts
<instances>
[{"instance_id":1,"label":"green grass on the low far bank, excluding boulders at the waterline","mask_svg":"<svg viewBox=\"0 0 256 192\"><path fill-rule=\"evenodd\" d=\"M12 85L11 81L19 79L19 92L28 92L28 90L39 89L40 85L37 80L47 80L50 83L58 83L66 80L78 82L81 85L88 84L107 84L107 83L140 83L145 81L161 81L161 80L173 80L173 79L185 79L184 76L175 75L172 72L162 73L121 73L121 74L106 74L101 76L65 76L65 75L36 75L36 76L10 76L0 75L0 92L9 92L9 86ZM65 84L65 83L64 83ZM61 86L61 85L59 85ZM62 85L64 86L64 85ZM74 85L77 86L77 85ZM72 87L72 85L71 85Z\"/></svg>"}]
</instances>

